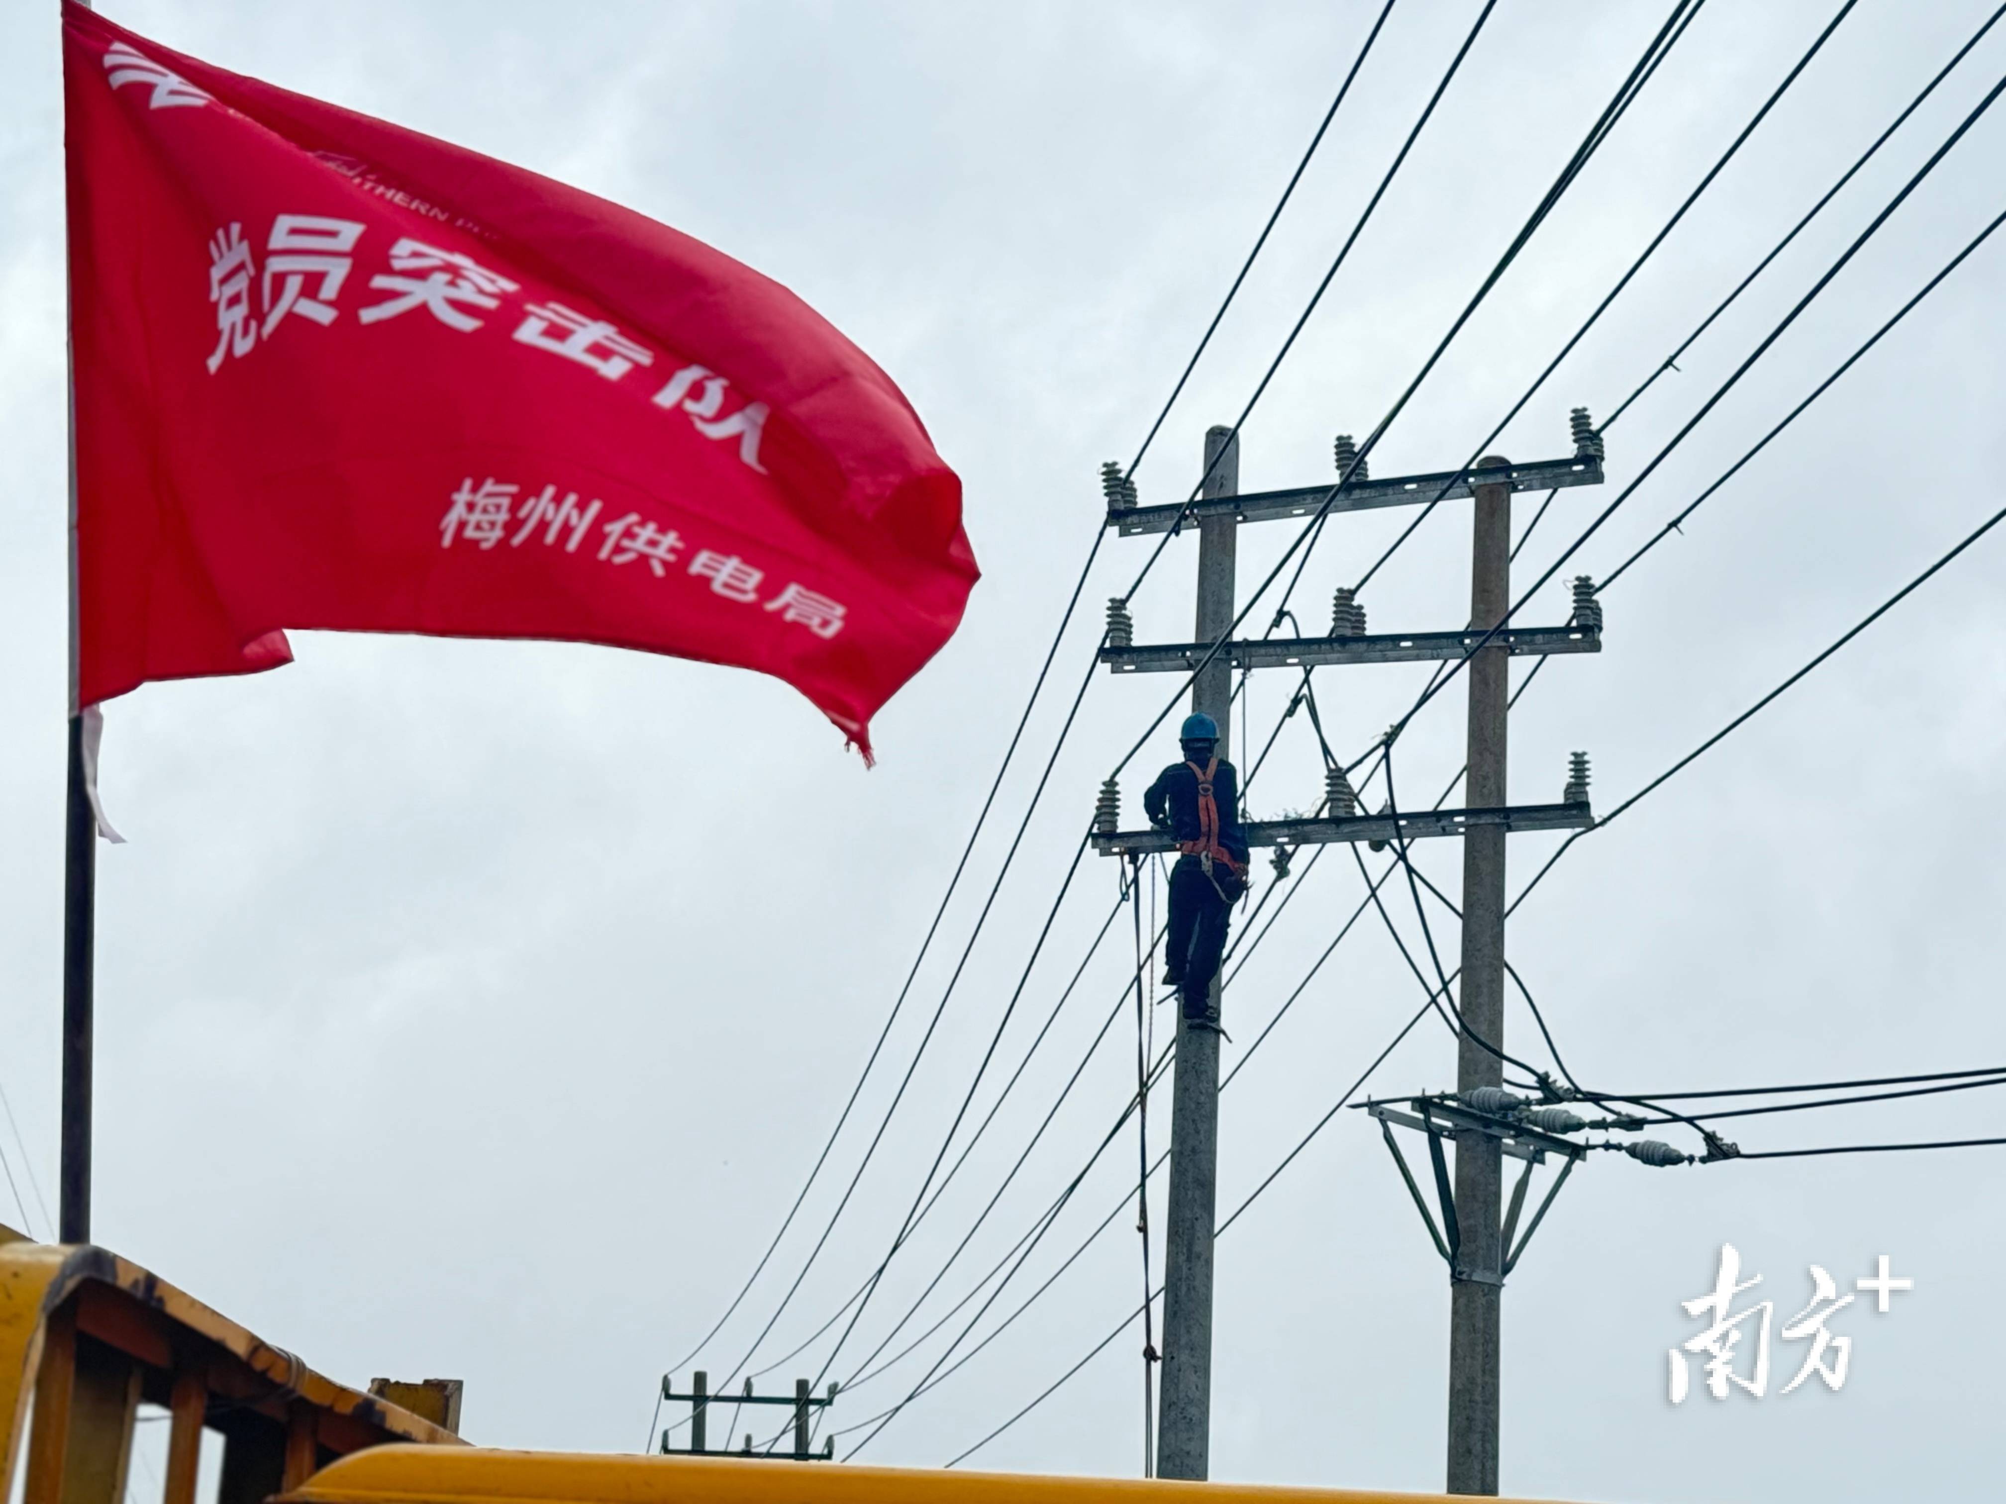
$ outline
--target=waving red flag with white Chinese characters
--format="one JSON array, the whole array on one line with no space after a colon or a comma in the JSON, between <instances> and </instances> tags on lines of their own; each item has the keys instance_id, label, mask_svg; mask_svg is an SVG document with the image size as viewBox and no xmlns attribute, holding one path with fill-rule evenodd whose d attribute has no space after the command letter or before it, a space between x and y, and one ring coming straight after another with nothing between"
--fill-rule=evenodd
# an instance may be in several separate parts
<instances>
[{"instance_id":1,"label":"waving red flag with white Chinese characters","mask_svg":"<svg viewBox=\"0 0 2006 1504\"><path fill-rule=\"evenodd\" d=\"M869 756L961 622L961 483L778 283L64 4L78 704L283 628L774 674Z\"/></svg>"}]
</instances>

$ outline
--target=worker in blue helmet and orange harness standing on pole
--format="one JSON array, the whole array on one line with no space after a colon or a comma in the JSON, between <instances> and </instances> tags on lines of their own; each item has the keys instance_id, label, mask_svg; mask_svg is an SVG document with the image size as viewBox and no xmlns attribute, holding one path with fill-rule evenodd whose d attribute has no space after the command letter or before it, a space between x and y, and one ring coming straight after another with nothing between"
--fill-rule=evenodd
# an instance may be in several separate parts
<instances>
[{"instance_id":1,"label":"worker in blue helmet and orange harness standing on pole","mask_svg":"<svg viewBox=\"0 0 2006 1504\"><path fill-rule=\"evenodd\" d=\"M1184 995L1194 1029L1220 1027L1212 983L1226 955L1234 904L1248 890L1248 842L1240 830L1240 776L1218 756L1212 716L1186 716L1184 762L1163 768L1141 796L1149 824L1169 830L1184 852L1169 870L1169 934L1163 987Z\"/></svg>"}]
</instances>

